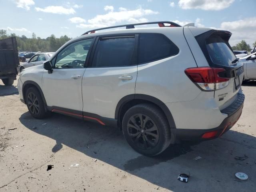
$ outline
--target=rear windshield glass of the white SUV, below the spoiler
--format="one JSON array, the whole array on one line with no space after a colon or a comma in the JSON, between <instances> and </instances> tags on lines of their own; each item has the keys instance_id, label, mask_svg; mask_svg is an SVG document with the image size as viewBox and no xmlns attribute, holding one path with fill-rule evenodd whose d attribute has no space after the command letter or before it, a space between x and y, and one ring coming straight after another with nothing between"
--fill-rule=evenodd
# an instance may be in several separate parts
<instances>
[{"instance_id":1,"label":"rear windshield glass of the white SUV, below the spoiler","mask_svg":"<svg viewBox=\"0 0 256 192\"><path fill-rule=\"evenodd\" d=\"M218 65L230 66L236 56L228 44L218 35L212 35L206 40L206 47L212 62Z\"/></svg>"}]
</instances>

